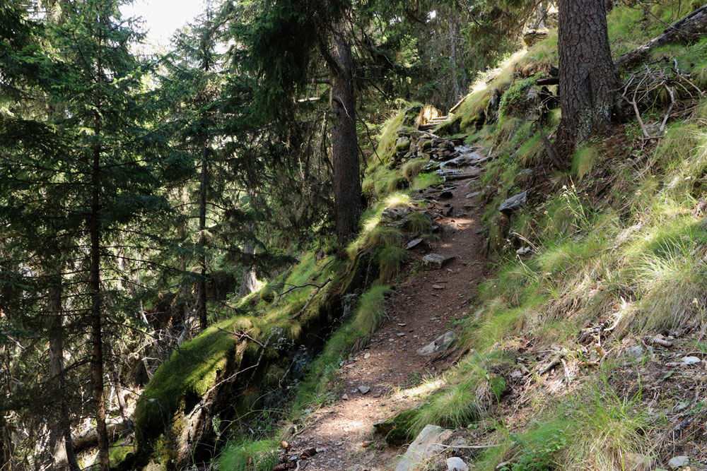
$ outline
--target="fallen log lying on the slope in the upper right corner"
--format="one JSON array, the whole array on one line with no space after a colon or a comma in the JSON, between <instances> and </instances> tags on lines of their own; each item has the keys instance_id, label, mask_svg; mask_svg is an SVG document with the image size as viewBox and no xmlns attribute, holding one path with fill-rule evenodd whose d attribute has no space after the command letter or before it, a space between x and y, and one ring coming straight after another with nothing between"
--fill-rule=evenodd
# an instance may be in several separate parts
<instances>
[{"instance_id":1,"label":"fallen log lying on the slope in the upper right corner","mask_svg":"<svg viewBox=\"0 0 707 471\"><path fill-rule=\"evenodd\" d=\"M688 16L665 28L662 35L654 37L642 46L626 52L617 59L617 67L628 69L636 66L648 57L648 53L656 47L673 42L689 42L699 40L707 34L707 5L697 8Z\"/></svg>"}]
</instances>

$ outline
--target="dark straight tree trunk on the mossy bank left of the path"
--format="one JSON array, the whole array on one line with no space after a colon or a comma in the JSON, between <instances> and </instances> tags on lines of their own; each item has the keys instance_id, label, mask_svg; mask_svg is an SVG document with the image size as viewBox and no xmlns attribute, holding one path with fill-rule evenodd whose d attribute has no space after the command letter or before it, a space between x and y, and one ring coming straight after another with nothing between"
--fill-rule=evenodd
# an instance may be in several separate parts
<instances>
[{"instance_id":1,"label":"dark straight tree trunk on the mossy bank left of the path","mask_svg":"<svg viewBox=\"0 0 707 471\"><path fill-rule=\"evenodd\" d=\"M354 95L351 44L342 21L332 37L332 153L334 162L334 207L336 208L338 254L358 230L361 215L361 176L356 138L356 96Z\"/></svg>"}]
</instances>

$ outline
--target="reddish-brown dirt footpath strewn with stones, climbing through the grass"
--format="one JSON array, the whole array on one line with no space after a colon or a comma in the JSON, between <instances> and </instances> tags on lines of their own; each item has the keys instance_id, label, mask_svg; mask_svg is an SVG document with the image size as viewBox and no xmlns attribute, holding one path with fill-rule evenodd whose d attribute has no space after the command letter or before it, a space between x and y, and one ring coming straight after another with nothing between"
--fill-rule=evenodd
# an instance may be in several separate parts
<instances>
[{"instance_id":1,"label":"reddish-brown dirt footpath strewn with stones, climbing through the grass","mask_svg":"<svg viewBox=\"0 0 707 471\"><path fill-rule=\"evenodd\" d=\"M472 160L478 155L474 149L465 152ZM461 168L462 172L468 169ZM332 391L334 402L313 410L303 431L291 439L288 455L320 450L300 460L300 469L385 470L401 452L389 448L374 433L373 424L414 407L430 392L426 388L440 386L440 374L451 366L453 352L422 356L417 350L454 330L455 320L468 315L469 296L488 275L482 255L483 208L467 198L476 181L477 177L470 177L444 185L454 188L452 198L439 201L441 210L435 209L440 239L411 251L404 280L395 286L387 304L385 323L365 349L341 365ZM423 196L433 194L426 191ZM445 216L447 203L455 209ZM455 259L439 270L417 270L428 253Z\"/></svg>"}]
</instances>

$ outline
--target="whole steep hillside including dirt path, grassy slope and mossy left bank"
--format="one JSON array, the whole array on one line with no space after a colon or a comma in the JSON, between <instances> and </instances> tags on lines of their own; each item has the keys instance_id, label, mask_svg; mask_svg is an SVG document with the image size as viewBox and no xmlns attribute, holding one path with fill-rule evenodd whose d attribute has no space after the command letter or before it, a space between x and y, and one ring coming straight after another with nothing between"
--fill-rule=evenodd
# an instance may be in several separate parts
<instances>
[{"instance_id":1,"label":"whole steep hillside including dirt path, grassy slope and mossy left bank","mask_svg":"<svg viewBox=\"0 0 707 471\"><path fill-rule=\"evenodd\" d=\"M614 55L691 10L615 6ZM304 254L160 366L126 469L707 468L706 40L624 71L640 119L558 165L556 30L536 39L432 131L431 107L390 118L349 260Z\"/></svg>"}]
</instances>

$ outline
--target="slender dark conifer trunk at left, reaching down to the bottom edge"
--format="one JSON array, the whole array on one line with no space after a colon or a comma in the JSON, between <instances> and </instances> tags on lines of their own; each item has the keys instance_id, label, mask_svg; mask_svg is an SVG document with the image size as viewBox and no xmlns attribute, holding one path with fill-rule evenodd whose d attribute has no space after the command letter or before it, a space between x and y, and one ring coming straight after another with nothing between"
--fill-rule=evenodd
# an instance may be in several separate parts
<instances>
[{"instance_id":1,"label":"slender dark conifer trunk at left, reaching down to the bottom edge","mask_svg":"<svg viewBox=\"0 0 707 471\"><path fill-rule=\"evenodd\" d=\"M99 42L100 44L100 42ZM97 83L100 84L103 68L98 59ZM100 90L95 97L94 132L96 144L93 147L93 165L91 171L91 203L88 233L90 237L90 330L91 330L91 373L93 379L93 402L95 403L95 422L98 432L98 463L101 471L110 470L108 457L108 434L105 427L105 398L103 391L103 326L101 319L102 299L100 292L100 131L101 100Z\"/></svg>"}]
</instances>

